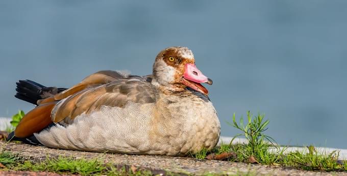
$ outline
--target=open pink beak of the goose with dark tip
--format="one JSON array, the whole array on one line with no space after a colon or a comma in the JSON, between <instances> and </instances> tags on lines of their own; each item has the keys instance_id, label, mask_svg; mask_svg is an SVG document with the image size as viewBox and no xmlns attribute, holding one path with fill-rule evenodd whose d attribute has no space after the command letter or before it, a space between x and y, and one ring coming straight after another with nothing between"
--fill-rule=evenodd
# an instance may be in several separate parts
<instances>
[{"instance_id":1,"label":"open pink beak of the goose with dark tip","mask_svg":"<svg viewBox=\"0 0 347 176\"><path fill-rule=\"evenodd\" d=\"M186 64L182 83L204 94L208 94L208 90L200 83L212 85L212 80L206 77L194 64Z\"/></svg>"}]
</instances>

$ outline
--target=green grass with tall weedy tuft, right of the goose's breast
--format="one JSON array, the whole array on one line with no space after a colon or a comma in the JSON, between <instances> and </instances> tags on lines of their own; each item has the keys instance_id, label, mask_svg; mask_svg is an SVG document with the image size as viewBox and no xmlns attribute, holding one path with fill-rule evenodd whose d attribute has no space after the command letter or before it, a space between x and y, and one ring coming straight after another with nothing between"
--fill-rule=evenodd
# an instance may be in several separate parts
<instances>
[{"instance_id":1,"label":"green grass with tall weedy tuft, right of the goose's breast","mask_svg":"<svg viewBox=\"0 0 347 176\"><path fill-rule=\"evenodd\" d=\"M263 114L258 113L253 116L248 111L247 121L244 122L243 118L241 118L239 123L237 123L234 114L233 122L228 124L241 131L232 141L238 136L244 136L247 142L238 144L232 144L232 141L229 144L221 143L215 149L210 151L204 149L191 156L202 159L210 153L218 155L232 152L236 156L227 159L232 162L292 166L304 170L347 171L347 161L342 163L338 161L339 151L326 153L324 151L316 151L314 146L308 146L308 153L295 151L285 154L285 147L280 149L274 139L264 134L268 128L269 121L264 121ZM269 149L274 151L269 151Z\"/></svg>"}]
</instances>

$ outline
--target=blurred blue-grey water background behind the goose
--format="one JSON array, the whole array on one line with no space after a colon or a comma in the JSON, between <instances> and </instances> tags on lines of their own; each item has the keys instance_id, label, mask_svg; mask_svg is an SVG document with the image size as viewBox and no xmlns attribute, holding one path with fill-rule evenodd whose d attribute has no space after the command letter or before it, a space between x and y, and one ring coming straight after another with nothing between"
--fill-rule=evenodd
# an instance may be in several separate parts
<instances>
[{"instance_id":1,"label":"blurred blue-grey water background behind the goose","mask_svg":"<svg viewBox=\"0 0 347 176\"><path fill-rule=\"evenodd\" d=\"M99 70L152 72L187 46L213 79L221 135L247 110L280 144L347 148L347 1L0 1L0 116L34 106L15 82L69 87Z\"/></svg>"}]
</instances>

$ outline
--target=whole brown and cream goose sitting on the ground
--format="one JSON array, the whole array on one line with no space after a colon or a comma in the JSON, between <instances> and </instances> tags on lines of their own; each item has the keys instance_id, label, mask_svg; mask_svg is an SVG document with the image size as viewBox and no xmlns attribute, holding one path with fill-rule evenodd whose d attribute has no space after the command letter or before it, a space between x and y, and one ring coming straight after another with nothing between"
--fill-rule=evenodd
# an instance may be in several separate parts
<instances>
[{"instance_id":1,"label":"whole brown and cream goose sitting on the ground","mask_svg":"<svg viewBox=\"0 0 347 176\"><path fill-rule=\"evenodd\" d=\"M212 149L217 112L192 51L175 46L155 57L151 75L93 73L66 88L17 82L15 97L37 105L8 140L49 148L119 154L186 156Z\"/></svg>"}]
</instances>

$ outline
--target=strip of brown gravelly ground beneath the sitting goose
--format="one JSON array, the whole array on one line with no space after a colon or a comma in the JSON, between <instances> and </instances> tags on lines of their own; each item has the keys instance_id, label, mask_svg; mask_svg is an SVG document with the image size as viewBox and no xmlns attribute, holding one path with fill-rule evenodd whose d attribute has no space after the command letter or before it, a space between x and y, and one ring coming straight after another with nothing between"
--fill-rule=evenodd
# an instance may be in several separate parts
<instances>
[{"instance_id":1,"label":"strip of brown gravelly ground beneath the sitting goose","mask_svg":"<svg viewBox=\"0 0 347 176\"><path fill-rule=\"evenodd\" d=\"M110 153L92 153L50 149L42 146L27 144L5 143L0 141L2 150L18 153L24 158L39 161L48 157L68 156L74 158L99 158L115 165L134 165L152 170L168 170L175 173L226 173L253 172L257 175L347 175L347 172L314 172L298 170L290 167L262 166L257 164L232 163L228 161L197 160L183 157L122 155ZM158 172L157 172L158 173ZM4 172L0 172L4 174Z\"/></svg>"}]
</instances>

